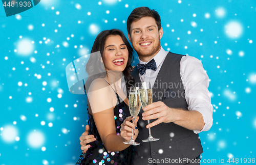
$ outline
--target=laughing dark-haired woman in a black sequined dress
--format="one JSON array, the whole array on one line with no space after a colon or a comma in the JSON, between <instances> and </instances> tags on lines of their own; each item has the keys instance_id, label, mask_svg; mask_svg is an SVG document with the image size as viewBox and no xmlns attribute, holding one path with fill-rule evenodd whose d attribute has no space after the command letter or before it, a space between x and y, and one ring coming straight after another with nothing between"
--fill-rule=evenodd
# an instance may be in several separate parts
<instances>
[{"instance_id":1,"label":"laughing dark-haired woman in a black sequined dress","mask_svg":"<svg viewBox=\"0 0 256 165\"><path fill-rule=\"evenodd\" d=\"M100 51L102 59L93 56L92 53L97 51ZM129 69L132 58L133 49L120 30L102 31L95 39L86 65L90 78L85 85L88 123L95 142L76 164L131 164L133 146L123 143L127 140L120 136L120 125L130 116L128 99L121 90L121 78L124 75L127 82L133 81ZM105 71L95 67L102 62ZM136 139L138 130L134 133Z\"/></svg>"}]
</instances>

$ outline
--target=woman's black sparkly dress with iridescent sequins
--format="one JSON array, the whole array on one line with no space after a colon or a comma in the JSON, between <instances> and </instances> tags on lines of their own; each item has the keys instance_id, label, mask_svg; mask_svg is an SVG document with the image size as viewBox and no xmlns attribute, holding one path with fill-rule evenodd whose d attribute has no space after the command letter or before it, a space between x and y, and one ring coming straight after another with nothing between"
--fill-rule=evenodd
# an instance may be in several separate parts
<instances>
[{"instance_id":1,"label":"woman's black sparkly dress with iridescent sequins","mask_svg":"<svg viewBox=\"0 0 256 165\"><path fill-rule=\"evenodd\" d=\"M117 95L117 93L116 93ZM120 125L123 123L123 120L126 117L131 116L129 112L129 106L124 102L120 102L119 96L118 105L114 108L114 118L116 125L117 135L120 135ZM87 109L88 110L88 109ZM130 165L132 164L134 146L130 145L123 151L119 152L109 152L105 149L102 140L100 138L99 132L96 128L96 125L93 120L93 116L88 113L89 121L88 124L90 126L90 134L93 134L96 138L95 142L91 142L91 147L88 149L86 153L82 153L80 155L79 160L76 164L79 165Z\"/></svg>"}]
</instances>

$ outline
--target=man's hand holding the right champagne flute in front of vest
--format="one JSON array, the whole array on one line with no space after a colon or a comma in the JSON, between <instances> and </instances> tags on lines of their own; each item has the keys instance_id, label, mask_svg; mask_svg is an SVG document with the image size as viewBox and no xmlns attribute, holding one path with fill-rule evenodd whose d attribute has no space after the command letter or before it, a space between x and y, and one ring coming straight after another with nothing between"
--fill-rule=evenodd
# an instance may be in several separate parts
<instances>
[{"instance_id":1,"label":"man's hand holding the right champagne flute in front of vest","mask_svg":"<svg viewBox=\"0 0 256 165\"><path fill-rule=\"evenodd\" d=\"M170 123L175 121L175 112L173 108L168 107L162 101L154 102L143 108L142 120L157 119L156 121L146 125L151 128L160 123Z\"/></svg>"}]
</instances>

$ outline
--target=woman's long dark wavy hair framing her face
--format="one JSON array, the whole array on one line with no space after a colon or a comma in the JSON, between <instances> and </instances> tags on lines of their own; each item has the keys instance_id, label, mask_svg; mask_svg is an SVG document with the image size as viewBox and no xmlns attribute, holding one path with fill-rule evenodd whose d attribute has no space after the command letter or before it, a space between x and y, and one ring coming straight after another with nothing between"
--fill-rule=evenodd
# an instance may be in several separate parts
<instances>
[{"instance_id":1,"label":"woman's long dark wavy hair framing her face","mask_svg":"<svg viewBox=\"0 0 256 165\"><path fill-rule=\"evenodd\" d=\"M111 30L105 30L102 31L98 34L98 36L96 37L93 47L92 47L92 51L91 53L100 51L101 54L101 58L102 58L102 54L104 51L104 46L105 46L105 41L108 38L108 36L113 35L113 36L120 36L124 42L124 44L127 47L127 50L129 52L129 56L128 56L128 61L127 61L127 65L125 67L125 69L123 70L123 75L125 77L125 81L126 81L126 87L128 89L130 89L130 87L134 84L134 78L131 75L131 69L133 69L133 67L131 66L131 63L133 62L133 48L130 45L130 43L128 42L128 40L126 39L126 37L124 36L123 32L118 30L118 29L111 29ZM99 73L97 75L93 75L90 76L88 78L88 80L86 81L86 84L84 85L84 90L86 90L86 87L89 88L92 81L96 78L99 77L105 77L106 75L106 70L103 68L95 68L95 64L99 64L101 63L100 59L97 56L90 56L87 65L86 65L86 72L89 74L89 76L91 75L90 73ZM129 83L128 83L129 82ZM87 89L88 90L88 89Z\"/></svg>"}]
</instances>

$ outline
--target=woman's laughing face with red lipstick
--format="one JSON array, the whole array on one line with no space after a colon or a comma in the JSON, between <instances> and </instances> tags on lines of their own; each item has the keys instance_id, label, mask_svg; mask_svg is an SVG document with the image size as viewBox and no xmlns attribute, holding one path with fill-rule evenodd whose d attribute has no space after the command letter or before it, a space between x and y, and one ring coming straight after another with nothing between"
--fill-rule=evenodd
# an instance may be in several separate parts
<instances>
[{"instance_id":1,"label":"woman's laughing face with red lipstick","mask_svg":"<svg viewBox=\"0 0 256 165\"><path fill-rule=\"evenodd\" d=\"M102 60L106 70L123 71L128 61L128 49L121 36L109 36L104 45Z\"/></svg>"}]
</instances>

